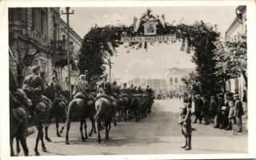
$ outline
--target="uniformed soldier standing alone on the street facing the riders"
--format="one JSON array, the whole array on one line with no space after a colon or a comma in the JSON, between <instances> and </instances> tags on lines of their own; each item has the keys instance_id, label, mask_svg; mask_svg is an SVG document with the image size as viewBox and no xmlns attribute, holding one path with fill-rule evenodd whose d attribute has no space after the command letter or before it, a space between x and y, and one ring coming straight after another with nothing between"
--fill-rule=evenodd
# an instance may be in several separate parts
<instances>
[{"instance_id":1,"label":"uniformed soldier standing alone on the street facing the riders","mask_svg":"<svg viewBox=\"0 0 256 160\"><path fill-rule=\"evenodd\" d=\"M183 104L180 106L178 125L180 126L182 135L185 138L185 145L181 146L181 148L191 150L191 103L189 102L188 94L186 93L183 95Z\"/></svg>"}]
</instances>

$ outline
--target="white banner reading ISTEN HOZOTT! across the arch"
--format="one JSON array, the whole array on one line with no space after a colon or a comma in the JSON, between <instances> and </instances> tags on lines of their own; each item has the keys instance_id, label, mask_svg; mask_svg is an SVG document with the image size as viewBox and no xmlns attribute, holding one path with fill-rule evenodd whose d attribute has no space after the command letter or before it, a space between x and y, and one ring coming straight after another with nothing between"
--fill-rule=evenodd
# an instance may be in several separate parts
<instances>
[{"instance_id":1,"label":"white banner reading ISTEN HOZOTT! across the arch","mask_svg":"<svg viewBox=\"0 0 256 160\"><path fill-rule=\"evenodd\" d=\"M122 42L176 42L176 35L134 36L122 37Z\"/></svg>"}]
</instances>

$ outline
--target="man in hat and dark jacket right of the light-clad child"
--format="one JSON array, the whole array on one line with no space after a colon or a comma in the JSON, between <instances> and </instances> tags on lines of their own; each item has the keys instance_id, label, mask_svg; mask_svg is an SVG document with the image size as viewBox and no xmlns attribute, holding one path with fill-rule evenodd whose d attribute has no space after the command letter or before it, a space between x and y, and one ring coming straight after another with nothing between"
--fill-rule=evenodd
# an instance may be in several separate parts
<instances>
[{"instance_id":1,"label":"man in hat and dark jacket right of the light-clad child","mask_svg":"<svg viewBox=\"0 0 256 160\"><path fill-rule=\"evenodd\" d=\"M236 113L236 122L238 125L238 132L242 132L242 115L244 114L244 110L242 107L242 102L239 99L239 94L234 94L234 110Z\"/></svg>"}]
</instances>

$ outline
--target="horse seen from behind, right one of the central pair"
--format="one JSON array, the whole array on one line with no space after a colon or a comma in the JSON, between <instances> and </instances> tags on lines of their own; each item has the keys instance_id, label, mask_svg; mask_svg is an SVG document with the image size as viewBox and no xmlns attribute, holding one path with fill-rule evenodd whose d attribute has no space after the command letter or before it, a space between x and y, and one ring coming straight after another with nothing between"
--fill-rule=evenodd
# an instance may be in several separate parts
<instances>
[{"instance_id":1,"label":"horse seen from behind, right one of the central pair","mask_svg":"<svg viewBox=\"0 0 256 160\"><path fill-rule=\"evenodd\" d=\"M98 98L95 102L94 119L97 121L98 128L98 142L102 142L100 130L102 128L101 122L103 120L106 130L106 139L109 139L109 133L111 129L111 119L113 117L113 109L111 109L111 102L107 98Z\"/></svg>"}]
</instances>

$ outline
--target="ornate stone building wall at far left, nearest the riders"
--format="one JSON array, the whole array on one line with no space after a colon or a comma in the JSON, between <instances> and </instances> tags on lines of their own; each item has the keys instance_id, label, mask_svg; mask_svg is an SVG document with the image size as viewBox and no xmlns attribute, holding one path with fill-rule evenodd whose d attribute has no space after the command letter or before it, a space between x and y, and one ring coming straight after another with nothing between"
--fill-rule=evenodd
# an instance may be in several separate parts
<instances>
[{"instance_id":1,"label":"ornate stone building wall at far left, nearest the riders","mask_svg":"<svg viewBox=\"0 0 256 160\"><path fill-rule=\"evenodd\" d=\"M10 58L10 69L18 73L17 66L22 65L22 82L26 75L31 74L31 66L38 65L46 72L46 82L50 82L53 69L51 42L58 40L59 8L10 8L9 33L10 48L15 58ZM58 35L57 35L58 36ZM55 39L54 39L55 38ZM34 56L31 66L25 66L23 58L26 54Z\"/></svg>"}]
</instances>

